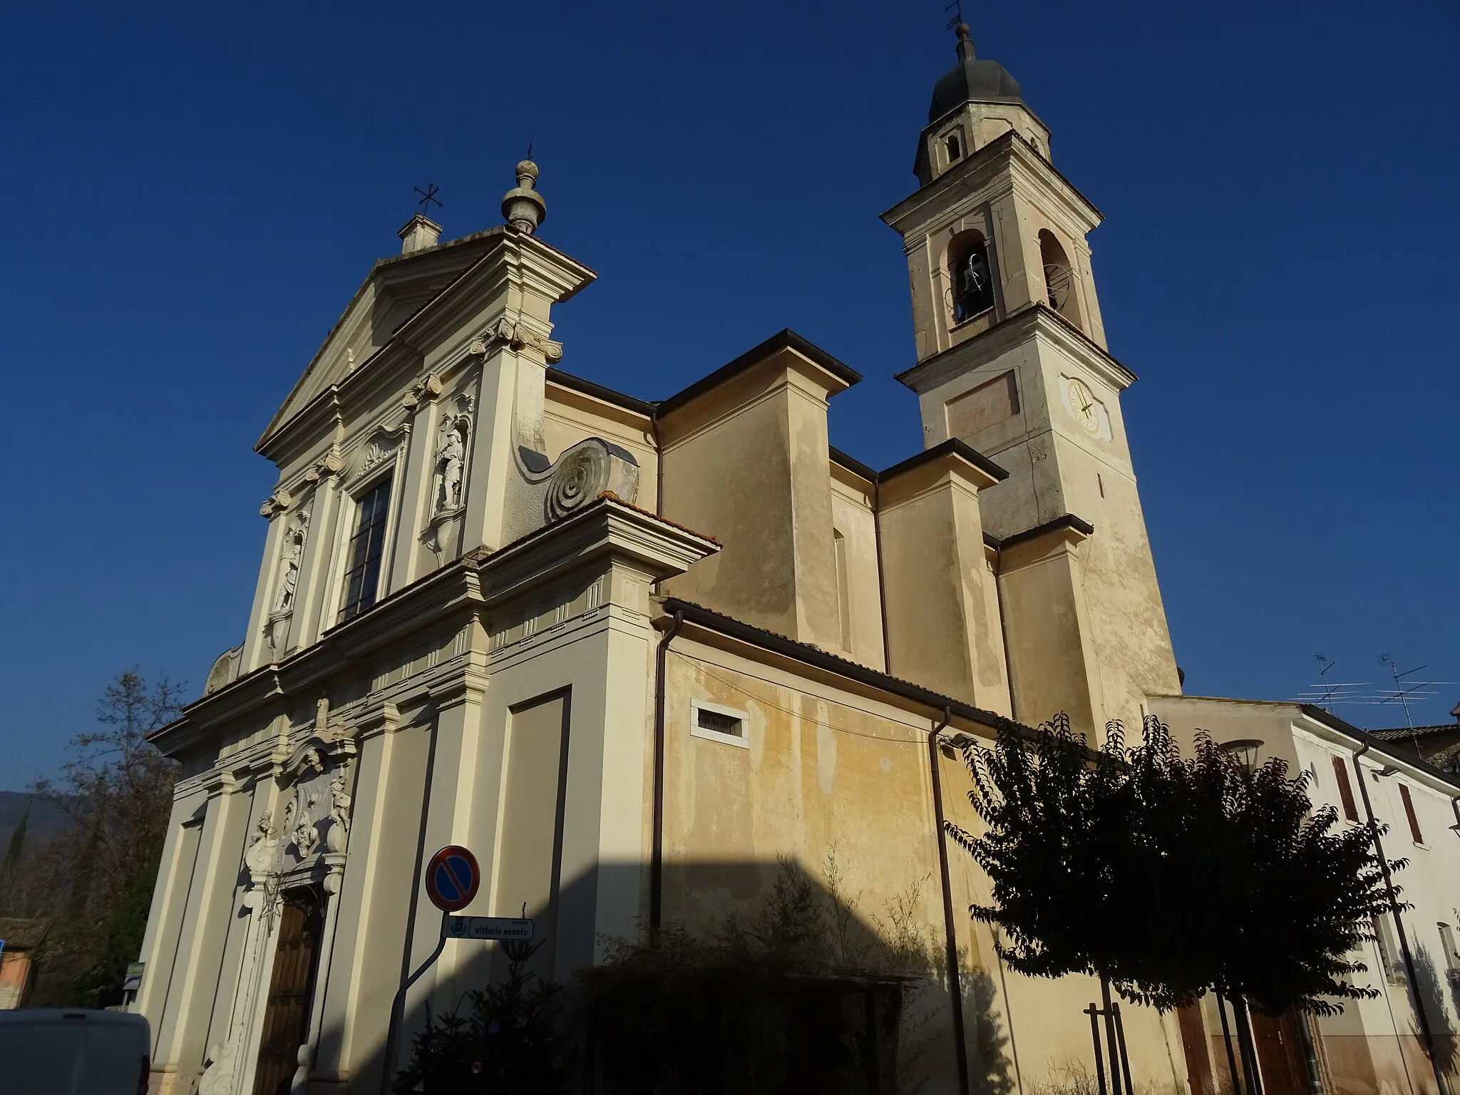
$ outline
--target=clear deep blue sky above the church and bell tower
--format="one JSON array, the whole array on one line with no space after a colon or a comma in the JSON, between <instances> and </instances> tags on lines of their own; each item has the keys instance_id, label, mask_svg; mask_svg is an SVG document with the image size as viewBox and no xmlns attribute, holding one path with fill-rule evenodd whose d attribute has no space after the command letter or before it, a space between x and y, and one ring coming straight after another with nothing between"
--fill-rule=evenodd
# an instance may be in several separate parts
<instances>
[{"instance_id":1,"label":"clear deep blue sky above the church and bell tower","mask_svg":"<svg viewBox=\"0 0 1460 1095\"><path fill-rule=\"evenodd\" d=\"M832 442L918 445L910 193L940 3L12 6L0 18L0 788L120 670L201 688L274 482L251 447L412 187L600 273L564 368L670 394L781 327L866 375ZM968 4L1092 238L1187 691L1460 680L1460 15L1448 0ZM1445 721L1460 685L1418 708ZM1340 708L1367 726L1397 710Z\"/></svg>"}]
</instances>

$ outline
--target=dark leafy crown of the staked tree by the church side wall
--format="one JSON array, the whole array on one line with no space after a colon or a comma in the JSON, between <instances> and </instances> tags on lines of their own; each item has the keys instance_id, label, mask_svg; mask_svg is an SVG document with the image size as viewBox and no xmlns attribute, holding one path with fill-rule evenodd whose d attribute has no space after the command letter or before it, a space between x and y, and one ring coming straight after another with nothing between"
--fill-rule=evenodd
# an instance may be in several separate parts
<instances>
[{"instance_id":1,"label":"dark leafy crown of the staked tree by the church side wall","mask_svg":"<svg viewBox=\"0 0 1460 1095\"><path fill-rule=\"evenodd\" d=\"M1127 1000L1171 1009L1204 991L1280 1013L1333 1013L1372 997L1349 975L1372 917L1391 908L1375 834L1333 832L1308 775L1270 759L1248 769L1199 733L1183 759L1148 720L1118 723L1091 750L1063 715L1032 739L964 750L983 834L948 831L984 869L1000 956L1032 977L1094 974ZM1390 863L1391 869L1403 860ZM1238 1025L1245 1015L1238 1009Z\"/></svg>"}]
</instances>

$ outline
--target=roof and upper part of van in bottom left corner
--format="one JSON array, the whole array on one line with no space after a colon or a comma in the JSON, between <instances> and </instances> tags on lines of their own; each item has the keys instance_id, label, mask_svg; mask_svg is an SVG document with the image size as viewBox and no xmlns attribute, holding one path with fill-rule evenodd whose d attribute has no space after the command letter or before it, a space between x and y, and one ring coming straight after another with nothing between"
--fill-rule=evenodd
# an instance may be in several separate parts
<instances>
[{"instance_id":1,"label":"roof and upper part of van in bottom left corner","mask_svg":"<svg viewBox=\"0 0 1460 1095\"><path fill-rule=\"evenodd\" d=\"M147 1095L152 1032L140 1015L35 1007L0 1012L4 1095Z\"/></svg>"}]
</instances>

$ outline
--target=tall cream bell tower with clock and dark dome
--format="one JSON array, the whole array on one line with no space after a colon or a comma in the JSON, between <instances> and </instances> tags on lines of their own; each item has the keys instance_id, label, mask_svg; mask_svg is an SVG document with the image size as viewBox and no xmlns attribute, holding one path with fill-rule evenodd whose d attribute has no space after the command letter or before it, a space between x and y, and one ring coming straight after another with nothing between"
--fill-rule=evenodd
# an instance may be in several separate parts
<instances>
[{"instance_id":1,"label":"tall cream bell tower with clock and dark dome","mask_svg":"<svg viewBox=\"0 0 1460 1095\"><path fill-rule=\"evenodd\" d=\"M1056 171L1018 82L956 34L920 185L882 215L912 295L917 364L898 380L918 394L924 447L959 438L1009 472L978 501L1002 543L1015 715L1132 726L1146 695L1180 686L1120 407L1136 375L1107 349L1085 241L1101 215ZM1032 683L1051 673L1079 680Z\"/></svg>"}]
</instances>

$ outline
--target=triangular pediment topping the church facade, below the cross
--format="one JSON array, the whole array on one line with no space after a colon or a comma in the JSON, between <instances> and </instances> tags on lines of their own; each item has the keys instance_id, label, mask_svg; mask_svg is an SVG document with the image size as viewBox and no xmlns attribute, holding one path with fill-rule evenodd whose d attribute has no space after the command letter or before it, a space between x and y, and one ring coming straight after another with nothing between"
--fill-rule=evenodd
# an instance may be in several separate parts
<instances>
[{"instance_id":1,"label":"triangular pediment topping the church facade, below the cross","mask_svg":"<svg viewBox=\"0 0 1460 1095\"><path fill-rule=\"evenodd\" d=\"M269 422L258 447L320 393L339 384L384 347L406 320L426 307L492 250L502 228L453 239L397 258L381 258L355 292L324 345Z\"/></svg>"}]
</instances>

